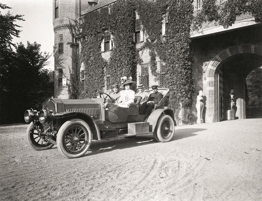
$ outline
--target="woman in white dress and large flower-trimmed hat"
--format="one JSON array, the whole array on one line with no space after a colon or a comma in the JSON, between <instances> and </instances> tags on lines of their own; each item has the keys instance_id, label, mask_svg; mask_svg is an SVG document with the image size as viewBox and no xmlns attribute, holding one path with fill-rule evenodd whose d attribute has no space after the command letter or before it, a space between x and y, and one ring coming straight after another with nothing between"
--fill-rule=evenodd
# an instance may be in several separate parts
<instances>
[{"instance_id":1,"label":"woman in white dress and large flower-trimmed hat","mask_svg":"<svg viewBox=\"0 0 262 201\"><path fill-rule=\"evenodd\" d=\"M128 81L124 82L120 88L125 89L120 91L119 99L116 105L120 107L128 107L135 100L135 91L131 90L130 87L134 86L136 82Z\"/></svg>"}]
</instances>

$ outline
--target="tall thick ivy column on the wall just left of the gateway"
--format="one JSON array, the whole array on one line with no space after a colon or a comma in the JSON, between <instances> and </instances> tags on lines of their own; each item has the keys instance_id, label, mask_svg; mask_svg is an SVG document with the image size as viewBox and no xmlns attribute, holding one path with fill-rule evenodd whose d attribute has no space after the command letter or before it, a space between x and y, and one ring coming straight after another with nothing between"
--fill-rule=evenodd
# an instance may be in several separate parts
<instances>
[{"instance_id":1,"label":"tall thick ivy column on the wall just left of the gateway","mask_svg":"<svg viewBox=\"0 0 262 201\"><path fill-rule=\"evenodd\" d=\"M166 79L170 86L170 104L180 109L192 105L194 83L187 40L193 18L193 6L188 0L169 1L169 21L165 40ZM179 110L178 110L179 111Z\"/></svg>"}]
</instances>

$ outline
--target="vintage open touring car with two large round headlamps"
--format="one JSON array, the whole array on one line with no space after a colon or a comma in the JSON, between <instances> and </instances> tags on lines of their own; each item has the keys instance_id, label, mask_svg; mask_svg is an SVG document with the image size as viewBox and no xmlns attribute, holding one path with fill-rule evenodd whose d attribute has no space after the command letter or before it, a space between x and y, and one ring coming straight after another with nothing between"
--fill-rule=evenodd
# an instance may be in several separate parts
<instances>
[{"instance_id":1,"label":"vintage open touring car with two large round headlamps","mask_svg":"<svg viewBox=\"0 0 262 201\"><path fill-rule=\"evenodd\" d=\"M26 131L28 143L34 150L47 150L56 144L65 157L77 158L87 152L92 140L153 133L155 140L168 142L176 121L174 112L165 107L169 89L158 91L163 98L150 115L139 114L141 96L135 96L134 104L128 108L109 102L111 97L106 93L93 99L48 98L40 112L32 108L25 111L25 121L30 123ZM150 94L152 90L146 92Z\"/></svg>"}]
</instances>

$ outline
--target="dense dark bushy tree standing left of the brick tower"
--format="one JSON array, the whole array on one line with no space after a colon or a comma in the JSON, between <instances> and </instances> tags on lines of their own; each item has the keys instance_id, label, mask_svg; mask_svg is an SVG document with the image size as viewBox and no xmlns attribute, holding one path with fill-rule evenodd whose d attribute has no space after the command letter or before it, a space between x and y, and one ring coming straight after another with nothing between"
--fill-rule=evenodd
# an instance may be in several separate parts
<instances>
[{"instance_id":1,"label":"dense dark bushy tree standing left of the brick tower","mask_svg":"<svg viewBox=\"0 0 262 201\"><path fill-rule=\"evenodd\" d=\"M18 44L1 63L1 123L23 122L25 110L42 109L42 103L54 94L49 83L49 54L40 52L40 44Z\"/></svg>"}]
</instances>

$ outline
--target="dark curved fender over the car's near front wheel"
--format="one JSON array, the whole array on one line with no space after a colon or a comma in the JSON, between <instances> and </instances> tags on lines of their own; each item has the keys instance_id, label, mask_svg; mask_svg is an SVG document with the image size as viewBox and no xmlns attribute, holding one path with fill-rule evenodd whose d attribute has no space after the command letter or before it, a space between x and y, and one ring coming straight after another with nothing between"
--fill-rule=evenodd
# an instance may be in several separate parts
<instances>
[{"instance_id":1,"label":"dark curved fender over the car's near front wheel","mask_svg":"<svg viewBox=\"0 0 262 201\"><path fill-rule=\"evenodd\" d=\"M90 115L84 112L59 112L59 113L54 114L54 118L57 118L57 119L67 118L67 117L72 117L72 116L74 116L73 118L83 119L86 123L89 124L90 127L93 127L91 128L93 139L95 139L94 133L96 133L95 135L97 136L97 140L101 140L99 127L97 123L95 122L95 120Z\"/></svg>"}]
</instances>

